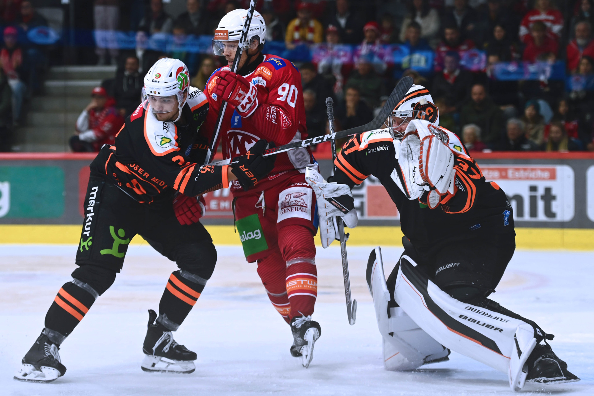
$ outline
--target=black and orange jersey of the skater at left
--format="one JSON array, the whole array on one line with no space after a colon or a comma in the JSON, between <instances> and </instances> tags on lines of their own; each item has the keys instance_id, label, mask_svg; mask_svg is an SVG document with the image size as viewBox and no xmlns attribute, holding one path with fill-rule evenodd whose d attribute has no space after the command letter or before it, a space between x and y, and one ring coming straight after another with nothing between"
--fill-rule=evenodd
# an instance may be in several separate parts
<instances>
[{"instance_id":1,"label":"black and orange jersey of the skater at left","mask_svg":"<svg viewBox=\"0 0 594 396\"><path fill-rule=\"evenodd\" d=\"M142 106L126 119L115 145L104 145L91 163L102 176L138 202L171 202L176 191L194 197L228 186L227 167L203 165L208 139L200 127L208 112L202 91L190 88L182 120L158 121Z\"/></svg>"}]
</instances>

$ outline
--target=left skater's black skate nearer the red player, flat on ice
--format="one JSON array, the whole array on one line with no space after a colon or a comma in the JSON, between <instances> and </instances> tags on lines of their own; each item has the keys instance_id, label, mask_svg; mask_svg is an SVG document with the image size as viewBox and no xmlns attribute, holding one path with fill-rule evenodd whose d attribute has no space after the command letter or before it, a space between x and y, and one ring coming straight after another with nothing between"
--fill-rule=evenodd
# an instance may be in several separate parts
<instances>
[{"instance_id":1,"label":"left skater's black skate nearer the red player, flat on ice","mask_svg":"<svg viewBox=\"0 0 594 396\"><path fill-rule=\"evenodd\" d=\"M148 372L193 373L196 353L173 340L173 334L160 323L155 323L157 313L149 309L149 330L144 338L141 368Z\"/></svg>"}]
</instances>

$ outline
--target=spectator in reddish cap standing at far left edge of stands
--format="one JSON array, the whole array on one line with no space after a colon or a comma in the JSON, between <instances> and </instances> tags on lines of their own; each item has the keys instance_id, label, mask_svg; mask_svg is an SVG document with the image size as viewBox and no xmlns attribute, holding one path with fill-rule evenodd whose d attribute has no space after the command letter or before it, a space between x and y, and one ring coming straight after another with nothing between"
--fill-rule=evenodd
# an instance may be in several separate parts
<instances>
[{"instance_id":1,"label":"spectator in reddish cap standing at far left edge of stands","mask_svg":"<svg viewBox=\"0 0 594 396\"><path fill-rule=\"evenodd\" d=\"M8 77L8 84L12 88L12 122L18 125L21 121L23 100L27 93L27 86L23 82L24 53L17 43L17 28L4 28L4 46L0 50L0 66Z\"/></svg>"}]
</instances>

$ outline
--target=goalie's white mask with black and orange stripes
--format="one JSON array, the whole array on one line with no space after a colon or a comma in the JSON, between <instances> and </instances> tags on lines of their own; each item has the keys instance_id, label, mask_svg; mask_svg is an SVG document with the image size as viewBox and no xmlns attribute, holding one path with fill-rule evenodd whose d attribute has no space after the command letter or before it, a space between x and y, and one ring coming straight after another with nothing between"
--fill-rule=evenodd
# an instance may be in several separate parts
<instances>
[{"instance_id":1,"label":"goalie's white mask with black and orange stripes","mask_svg":"<svg viewBox=\"0 0 594 396\"><path fill-rule=\"evenodd\" d=\"M433 98L429 94L429 90L422 85L413 84L409 88L406 96L392 110L392 117L402 118L403 122L407 118L413 118L429 121L434 125L440 124L440 112L433 103ZM390 122L392 122L392 117L390 118ZM389 127L396 128L397 125L389 125ZM394 131L394 134L399 134L399 132Z\"/></svg>"}]
</instances>

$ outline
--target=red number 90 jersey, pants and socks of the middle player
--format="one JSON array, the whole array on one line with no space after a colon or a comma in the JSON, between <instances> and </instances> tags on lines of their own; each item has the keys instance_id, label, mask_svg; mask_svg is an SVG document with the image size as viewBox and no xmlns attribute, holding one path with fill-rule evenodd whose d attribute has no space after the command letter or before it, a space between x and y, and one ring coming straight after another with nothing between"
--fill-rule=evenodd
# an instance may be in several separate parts
<instances>
[{"instance_id":1,"label":"red number 90 jersey, pants and socks of the middle player","mask_svg":"<svg viewBox=\"0 0 594 396\"><path fill-rule=\"evenodd\" d=\"M298 69L279 56L258 56L262 58L254 71L244 75L257 88L257 107L243 118L228 104L219 132L225 159L245 154L259 139L283 145L307 138ZM207 131L216 127L222 107L222 99L214 93L220 78L217 72L206 84L211 110L204 126ZM311 315L317 296L315 194L304 177L305 167L312 163L308 148L280 153L270 175L253 189L243 191L236 181L231 186L245 255L249 262L258 261L268 297L287 322L301 313ZM255 240L261 234L266 243Z\"/></svg>"}]
</instances>

